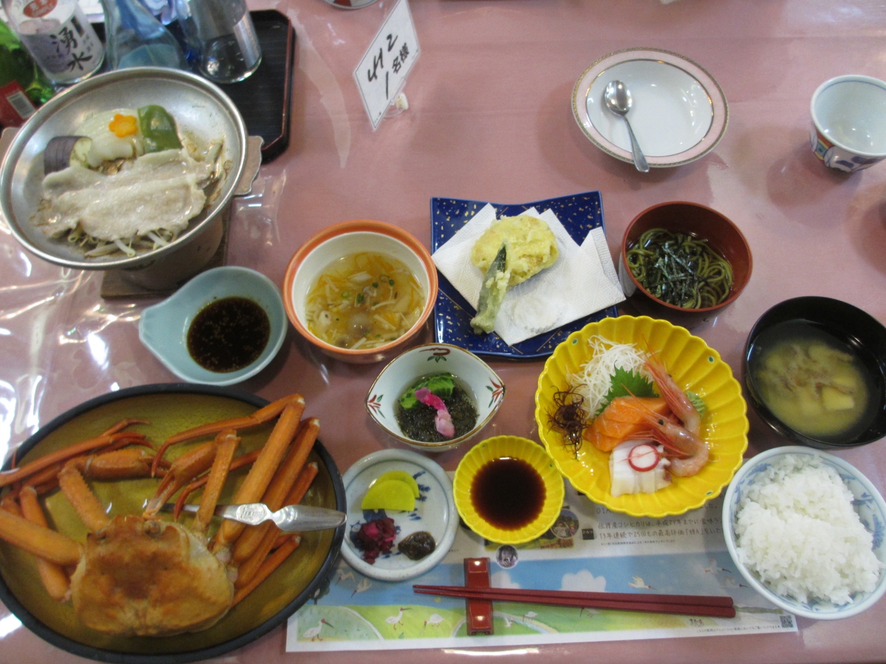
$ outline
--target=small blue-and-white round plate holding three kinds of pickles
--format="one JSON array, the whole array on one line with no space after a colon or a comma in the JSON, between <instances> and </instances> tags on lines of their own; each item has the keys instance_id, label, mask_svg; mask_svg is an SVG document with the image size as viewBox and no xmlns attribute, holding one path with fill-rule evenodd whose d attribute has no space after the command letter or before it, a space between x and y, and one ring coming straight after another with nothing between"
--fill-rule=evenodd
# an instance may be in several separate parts
<instances>
[{"instance_id":1,"label":"small blue-and-white round plate holding three kinds of pickles","mask_svg":"<svg viewBox=\"0 0 886 664\"><path fill-rule=\"evenodd\" d=\"M421 493L421 497L416 498L416 509L413 512L383 510L380 514L375 511L364 513L360 504L369 485L391 470L406 471L416 479ZM405 581L424 574L446 557L458 531L458 512L455 511L452 480L439 464L409 450L380 450L349 467L342 475L342 482L347 497L347 521L341 554L361 575L381 581ZM354 545L352 531L359 529L369 517L378 516L390 517L398 532L392 552L379 556L370 565L361 558L361 552ZM397 551L397 544L420 530L431 533L437 546L423 559L409 560Z\"/></svg>"}]
</instances>

